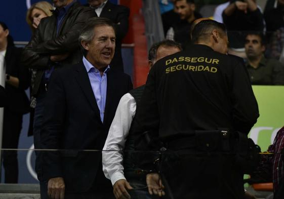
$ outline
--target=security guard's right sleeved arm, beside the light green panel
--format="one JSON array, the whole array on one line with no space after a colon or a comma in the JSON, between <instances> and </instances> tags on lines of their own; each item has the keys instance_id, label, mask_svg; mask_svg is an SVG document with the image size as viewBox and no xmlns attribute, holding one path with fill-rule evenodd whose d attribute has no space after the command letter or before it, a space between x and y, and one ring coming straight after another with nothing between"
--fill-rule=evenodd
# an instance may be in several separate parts
<instances>
[{"instance_id":1,"label":"security guard's right sleeved arm, beside the light green panel","mask_svg":"<svg viewBox=\"0 0 284 199\"><path fill-rule=\"evenodd\" d=\"M258 104L244 62L231 58L232 120L235 130L248 134L259 117Z\"/></svg>"}]
</instances>

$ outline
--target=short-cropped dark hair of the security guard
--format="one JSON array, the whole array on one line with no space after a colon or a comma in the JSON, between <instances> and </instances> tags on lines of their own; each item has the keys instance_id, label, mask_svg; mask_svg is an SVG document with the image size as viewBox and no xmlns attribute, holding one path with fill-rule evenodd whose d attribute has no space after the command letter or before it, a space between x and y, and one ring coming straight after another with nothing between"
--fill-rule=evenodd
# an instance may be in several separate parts
<instances>
[{"instance_id":1,"label":"short-cropped dark hair of the security guard","mask_svg":"<svg viewBox=\"0 0 284 199\"><path fill-rule=\"evenodd\" d=\"M195 44L199 40L206 40L208 38L208 34L211 33L214 29L220 30L220 33L226 33L226 26L223 23L219 23L217 21L208 19L202 20L195 25L191 32L192 43Z\"/></svg>"}]
</instances>

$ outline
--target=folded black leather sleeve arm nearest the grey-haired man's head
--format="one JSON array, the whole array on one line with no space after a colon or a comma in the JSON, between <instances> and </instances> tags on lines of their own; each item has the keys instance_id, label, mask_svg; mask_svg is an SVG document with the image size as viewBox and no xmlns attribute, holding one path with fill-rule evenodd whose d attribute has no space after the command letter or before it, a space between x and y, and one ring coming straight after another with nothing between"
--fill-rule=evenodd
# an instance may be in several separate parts
<instances>
[{"instance_id":1,"label":"folded black leather sleeve arm nearest the grey-haired man's head","mask_svg":"<svg viewBox=\"0 0 284 199\"><path fill-rule=\"evenodd\" d=\"M61 55L74 51L78 46L78 37L86 21L94 17L94 12L83 7L77 15L69 30L53 39L44 41L36 46L36 52L40 54ZM68 14L67 14L68 15ZM64 25L64 24L63 24ZM39 24L40 26L40 24Z\"/></svg>"}]
</instances>

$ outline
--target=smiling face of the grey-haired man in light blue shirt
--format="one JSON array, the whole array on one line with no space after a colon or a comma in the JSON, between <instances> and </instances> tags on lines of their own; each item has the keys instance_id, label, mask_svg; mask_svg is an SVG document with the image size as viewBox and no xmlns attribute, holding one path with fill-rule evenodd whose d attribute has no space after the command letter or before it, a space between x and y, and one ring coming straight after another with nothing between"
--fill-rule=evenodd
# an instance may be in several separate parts
<instances>
[{"instance_id":1,"label":"smiling face of the grey-haired man in light blue shirt","mask_svg":"<svg viewBox=\"0 0 284 199\"><path fill-rule=\"evenodd\" d=\"M111 26L101 25L94 28L94 38L90 43L82 41L88 51L87 60L97 69L110 64L115 48L115 33Z\"/></svg>"}]
</instances>

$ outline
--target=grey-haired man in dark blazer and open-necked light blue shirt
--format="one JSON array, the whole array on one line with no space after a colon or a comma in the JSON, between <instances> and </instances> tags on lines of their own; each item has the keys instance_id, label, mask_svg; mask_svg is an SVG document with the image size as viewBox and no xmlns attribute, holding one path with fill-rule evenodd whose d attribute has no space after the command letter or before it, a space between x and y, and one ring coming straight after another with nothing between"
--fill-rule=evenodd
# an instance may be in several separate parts
<instances>
[{"instance_id":1,"label":"grey-haired man in dark blazer and open-necked light blue shirt","mask_svg":"<svg viewBox=\"0 0 284 199\"><path fill-rule=\"evenodd\" d=\"M109 65L115 47L109 19L89 19L79 40L83 61L55 71L47 92L42 146L62 151L43 155L44 179L51 198L111 199L101 150L120 98L132 89L131 78ZM80 151L85 149L98 151Z\"/></svg>"}]
</instances>

